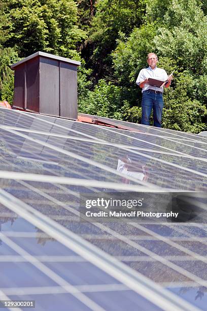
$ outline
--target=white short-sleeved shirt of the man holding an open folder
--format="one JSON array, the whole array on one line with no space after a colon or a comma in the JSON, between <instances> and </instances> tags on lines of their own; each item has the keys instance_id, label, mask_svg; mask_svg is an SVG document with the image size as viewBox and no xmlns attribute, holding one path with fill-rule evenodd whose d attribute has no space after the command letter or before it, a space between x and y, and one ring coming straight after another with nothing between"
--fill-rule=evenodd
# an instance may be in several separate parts
<instances>
[{"instance_id":1,"label":"white short-sleeved shirt of the man holding an open folder","mask_svg":"<svg viewBox=\"0 0 207 311\"><path fill-rule=\"evenodd\" d=\"M146 78L152 78L152 79L157 79L161 81L167 80L167 73L164 69L157 68L152 69L151 67L144 68L140 71L139 76L136 79L136 84L140 85L142 81L144 81ZM142 92L144 92L147 89L154 89L160 92L163 92L163 87L157 87L157 86L152 86L146 83L142 89Z\"/></svg>"}]
</instances>

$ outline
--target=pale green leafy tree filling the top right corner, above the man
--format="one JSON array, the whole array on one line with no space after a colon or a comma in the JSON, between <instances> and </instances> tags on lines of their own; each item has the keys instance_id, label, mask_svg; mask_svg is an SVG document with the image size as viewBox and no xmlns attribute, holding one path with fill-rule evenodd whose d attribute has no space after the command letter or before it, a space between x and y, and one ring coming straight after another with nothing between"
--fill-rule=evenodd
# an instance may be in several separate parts
<instances>
[{"instance_id":1,"label":"pale green leafy tree filling the top right corner, above the man","mask_svg":"<svg viewBox=\"0 0 207 311\"><path fill-rule=\"evenodd\" d=\"M153 39L156 52L175 59L180 70L191 70L197 76L203 74L207 54L207 18L199 1L170 0L161 6L162 15L159 5L160 0L150 1L146 18L148 23L159 24Z\"/></svg>"}]
</instances>

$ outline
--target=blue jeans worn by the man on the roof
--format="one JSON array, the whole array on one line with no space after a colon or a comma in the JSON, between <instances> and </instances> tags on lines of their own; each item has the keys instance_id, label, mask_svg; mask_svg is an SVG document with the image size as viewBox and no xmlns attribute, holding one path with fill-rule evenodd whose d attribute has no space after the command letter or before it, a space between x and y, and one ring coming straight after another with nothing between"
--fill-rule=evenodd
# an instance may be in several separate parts
<instances>
[{"instance_id":1,"label":"blue jeans worn by the man on the roof","mask_svg":"<svg viewBox=\"0 0 207 311\"><path fill-rule=\"evenodd\" d=\"M150 114L153 109L154 127L161 128L162 108L162 94L155 94L149 90L144 91L142 98L142 124L150 125Z\"/></svg>"}]
</instances>

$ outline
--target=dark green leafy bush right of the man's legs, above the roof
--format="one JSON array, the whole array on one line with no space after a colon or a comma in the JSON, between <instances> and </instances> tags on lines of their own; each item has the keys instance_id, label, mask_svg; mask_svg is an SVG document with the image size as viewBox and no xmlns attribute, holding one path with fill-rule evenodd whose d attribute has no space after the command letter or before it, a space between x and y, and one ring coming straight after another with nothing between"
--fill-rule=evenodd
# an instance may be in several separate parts
<instances>
[{"instance_id":1,"label":"dark green leafy bush right of the man's legs, above the roof","mask_svg":"<svg viewBox=\"0 0 207 311\"><path fill-rule=\"evenodd\" d=\"M188 72L178 73L174 85L164 95L163 127L192 133L204 131L207 109L196 99L193 76Z\"/></svg>"}]
</instances>

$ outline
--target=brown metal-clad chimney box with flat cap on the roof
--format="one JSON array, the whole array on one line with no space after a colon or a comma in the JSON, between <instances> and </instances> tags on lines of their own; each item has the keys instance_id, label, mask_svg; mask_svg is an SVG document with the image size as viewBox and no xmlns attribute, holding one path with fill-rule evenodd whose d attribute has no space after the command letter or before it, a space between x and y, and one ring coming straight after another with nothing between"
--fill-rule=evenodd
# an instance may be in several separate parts
<instances>
[{"instance_id":1,"label":"brown metal-clad chimney box with flat cap on the roof","mask_svg":"<svg viewBox=\"0 0 207 311\"><path fill-rule=\"evenodd\" d=\"M13 107L77 119L77 68L80 65L80 61L44 52L34 53L13 64Z\"/></svg>"}]
</instances>

